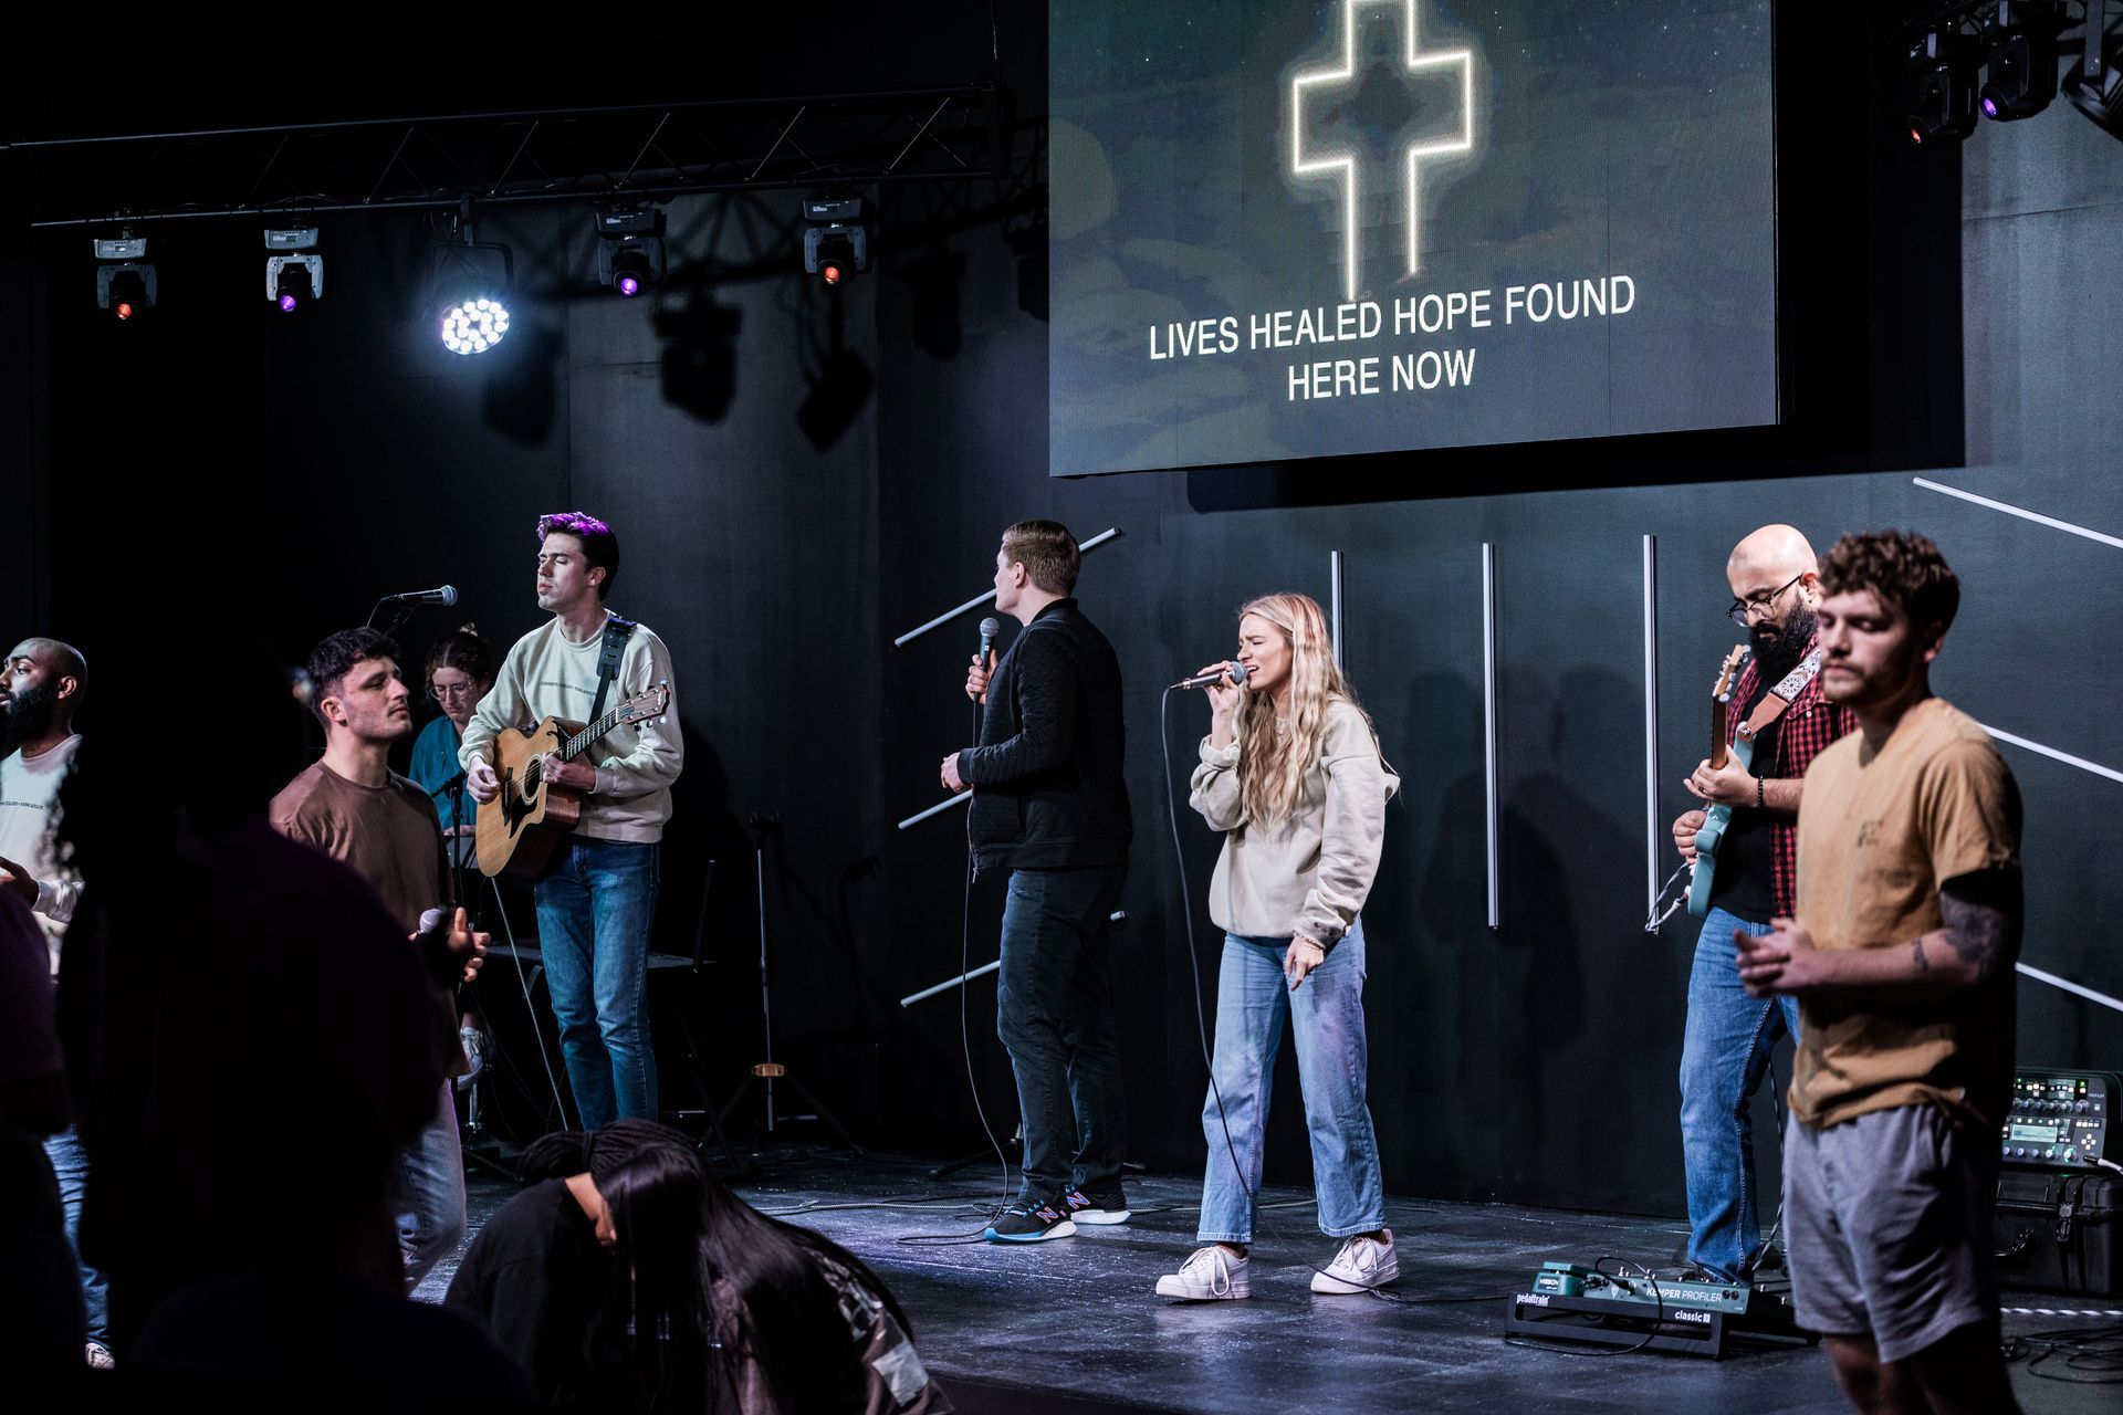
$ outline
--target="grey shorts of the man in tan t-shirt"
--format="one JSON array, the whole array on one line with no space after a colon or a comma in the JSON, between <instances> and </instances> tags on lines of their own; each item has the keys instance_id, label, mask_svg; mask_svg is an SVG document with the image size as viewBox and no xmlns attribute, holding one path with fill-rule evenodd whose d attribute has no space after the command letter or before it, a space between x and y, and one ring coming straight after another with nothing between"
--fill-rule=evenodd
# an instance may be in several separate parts
<instances>
[{"instance_id":1,"label":"grey shorts of the man in tan t-shirt","mask_svg":"<svg viewBox=\"0 0 2123 1415\"><path fill-rule=\"evenodd\" d=\"M1985 1143L1987 1141L1987 1143ZM1996 1139L1934 1105L1783 1135L1783 1226L1798 1324L1872 1337L1883 1362L1998 1320Z\"/></svg>"}]
</instances>

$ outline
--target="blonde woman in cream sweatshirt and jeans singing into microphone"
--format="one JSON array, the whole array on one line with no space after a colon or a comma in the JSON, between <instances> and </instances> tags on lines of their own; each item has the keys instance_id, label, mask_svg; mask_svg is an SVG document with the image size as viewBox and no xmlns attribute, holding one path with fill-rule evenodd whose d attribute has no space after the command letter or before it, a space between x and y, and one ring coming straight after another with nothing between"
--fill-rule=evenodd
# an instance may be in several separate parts
<instances>
[{"instance_id":1,"label":"blonde woman in cream sweatshirt and jeans singing into microphone","mask_svg":"<svg viewBox=\"0 0 2123 1415\"><path fill-rule=\"evenodd\" d=\"M1223 832L1210 880L1210 919L1225 940L1214 1080L1202 1107L1202 1247L1157 1279L1157 1294L1216 1300L1250 1290L1246 1245L1284 1018L1297 1040L1321 1233L1342 1239L1333 1260L1314 1271L1312 1290L1367 1292L1395 1281L1401 1264L1363 1099L1357 914L1378 874L1386 800L1401 779L1380 757L1371 719L1333 662L1316 602L1265 594L1246 605L1238 662L1244 685L1231 681L1227 662L1208 687L1210 732L1191 796Z\"/></svg>"}]
</instances>

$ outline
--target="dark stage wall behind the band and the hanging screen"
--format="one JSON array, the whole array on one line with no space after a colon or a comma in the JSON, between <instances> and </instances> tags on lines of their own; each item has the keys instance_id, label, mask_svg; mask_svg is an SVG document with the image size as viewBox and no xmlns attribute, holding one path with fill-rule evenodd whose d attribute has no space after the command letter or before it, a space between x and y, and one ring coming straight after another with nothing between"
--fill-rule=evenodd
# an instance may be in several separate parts
<instances>
[{"instance_id":1,"label":"dark stage wall behind the band and the hanging screen","mask_svg":"<svg viewBox=\"0 0 2123 1415\"><path fill-rule=\"evenodd\" d=\"M1040 112L1038 17L1006 17L1002 38L1023 110ZM1006 522L1117 526L1087 558L1083 602L1132 685L1138 846L1119 931L1132 1148L1193 1171L1204 1067L1157 687L1229 651L1248 594L1325 598L1340 549L1348 666L1405 779L1367 910L1388 1186L1679 1213L1673 1076L1694 940L1686 916L1662 938L1641 931L1641 537L1658 537L1660 834L1686 804L1677 783L1703 751L1703 696L1732 641L1724 556L1766 520L1822 547L1883 524L1936 537L1966 586L1940 692L1993 728L2123 764L2123 726L2102 711L2119 689L2102 651L2123 613L2119 552L1911 482L2123 530L2123 331L2089 314L2123 250L2123 146L2057 106L1985 125L1957 161L1919 161L1872 144L1862 110L1813 108L1781 108L1790 420L1741 435L1051 482L1047 327L1017 308L1015 257L994 227L945 238L968 261L962 348L913 346L907 257L932 240L917 193L887 202L883 231L907 240L847 295L845 344L877 392L826 452L794 422L807 361L815 369L830 337L817 295L794 278L722 282L715 299L741 312L735 395L720 418L681 412L648 310L560 297L588 282L582 212L482 227L518 244L520 282L537 291L507 378L427 348L405 295L412 227L333 225L331 295L295 329L178 295L204 289L217 261L253 282L257 252L248 229L176 231L166 269L191 274L166 274L168 305L157 327L125 331L149 335L130 348L85 318L79 250L38 248L55 272L34 361L51 441L32 477L53 507L38 579L49 624L93 653L140 596L208 592L212 632L255 624L293 658L384 590L452 579L465 602L420 611L408 647L467 617L510 639L537 617L531 518L560 505L609 516L626 545L614 607L671 641L694 753L662 946L690 950L701 861L722 861L701 1014L711 1061L735 1078L756 1046L743 823L779 813L777 1040L866 1139L962 1150L981 1139L957 997L896 1006L957 972L962 815L904 834L892 823L940 798L936 762L968 738L957 685L979 613L904 649L890 641L985 586ZM724 206L722 225L718 202L673 208L679 263L739 263L720 244L741 227ZM779 259L794 265L794 248ZM23 269L17 289L36 278ZM11 418L30 409L11 397ZM1497 931L1482 863L1484 541L1499 562ZM210 662L195 672L210 681ZM1204 706L1176 698L1185 774ZM91 730L125 717L100 704ZM2115 950L2089 923L2123 904L2104 868L2119 787L2006 755L2027 796L2025 957L2119 993ZM1180 832L1199 893L1214 842L1185 806ZM979 880L974 963L994 957L998 912L1000 883ZM1195 923L1212 986L1214 940L1199 910ZM994 982L966 1006L981 1093L1006 1131ZM2030 1063L2119 1065L2115 1014L2042 984L2021 986L2021 1031ZM1295 1088L1278 1105L1272 1169L1301 1177Z\"/></svg>"}]
</instances>

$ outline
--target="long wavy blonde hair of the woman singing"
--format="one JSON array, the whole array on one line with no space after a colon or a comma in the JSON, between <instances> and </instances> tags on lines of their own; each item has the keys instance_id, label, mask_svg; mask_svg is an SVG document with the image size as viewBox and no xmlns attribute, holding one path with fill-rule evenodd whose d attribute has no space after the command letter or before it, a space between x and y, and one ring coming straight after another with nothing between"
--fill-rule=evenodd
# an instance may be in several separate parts
<instances>
[{"instance_id":1,"label":"long wavy blonde hair of the woman singing","mask_svg":"<svg viewBox=\"0 0 2123 1415\"><path fill-rule=\"evenodd\" d=\"M1327 706L1335 700L1363 713L1342 666L1333 662L1333 639L1327 615L1308 594L1263 594L1238 611L1240 622L1259 615L1278 630L1291 647L1291 719L1276 732L1276 704L1267 694L1240 698L1238 738L1238 804L1248 821L1280 825L1297 810L1306 772L1312 770L1327 730ZM1365 726L1371 715L1363 713ZM1378 730L1371 732L1374 740Z\"/></svg>"}]
</instances>

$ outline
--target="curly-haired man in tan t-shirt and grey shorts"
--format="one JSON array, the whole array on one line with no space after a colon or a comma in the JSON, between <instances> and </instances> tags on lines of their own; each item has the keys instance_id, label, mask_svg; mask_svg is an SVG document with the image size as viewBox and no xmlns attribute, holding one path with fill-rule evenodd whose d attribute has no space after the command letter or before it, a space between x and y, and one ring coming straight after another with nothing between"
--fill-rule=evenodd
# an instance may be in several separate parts
<instances>
[{"instance_id":1,"label":"curly-haired man in tan t-shirt and grey shorts","mask_svg":"<svg viewBox=\"0 0 2123 1415\"><path fill-rule=\"evenodd\" d=\"M1847 535L1822 590L1822 692L1858 732L1805 779L1798 916L1737 936L1747 991L1800 1003L1783 1141L1792 1298L1860 1411L2017 1411L1991 1207L2019 791L1989 734L1930 689L1960 607L1938 547Z\"/></svg>"}]
</instances>

